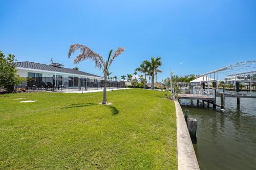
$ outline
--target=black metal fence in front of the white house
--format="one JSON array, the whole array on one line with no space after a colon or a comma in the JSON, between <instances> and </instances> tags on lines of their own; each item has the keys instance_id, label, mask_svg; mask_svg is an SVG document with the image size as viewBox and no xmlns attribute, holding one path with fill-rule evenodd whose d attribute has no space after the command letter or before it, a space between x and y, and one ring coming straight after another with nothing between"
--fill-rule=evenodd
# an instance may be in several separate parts
<instances>
[{"instance_id":1,"label":"black metal fence in front of the white house","mask_svg":"<svg viewBox=\"0 0 256 170\"><path fill-rule=\"evenodd\" d=\"M21 82L16 88L25 88L31 90L52 90L52 91L80 91L80 90L97 90L103 89L104 81L86 78L54 78L54 77L37 77L28 78L27 82ZM107 88L124 88L125 83L122 81L107 81Z\"/></svg>"}]
</instances>

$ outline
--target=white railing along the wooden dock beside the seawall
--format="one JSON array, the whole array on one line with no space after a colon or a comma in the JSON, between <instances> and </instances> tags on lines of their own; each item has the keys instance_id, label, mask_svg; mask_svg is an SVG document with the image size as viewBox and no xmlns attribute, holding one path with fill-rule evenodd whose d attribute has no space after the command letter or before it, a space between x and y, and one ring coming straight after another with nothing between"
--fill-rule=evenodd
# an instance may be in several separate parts
<instances>
[{"instance_id":1,"label":"white railing along the wooden dock beside the seawall","mask_svg":"<svg viewBox=\"0 0 256 170\"><path fill-rule=\"evenodd\" d=\"M214 89L178 89L178 96L215 98Z\"/></svg>"}]
</instances>

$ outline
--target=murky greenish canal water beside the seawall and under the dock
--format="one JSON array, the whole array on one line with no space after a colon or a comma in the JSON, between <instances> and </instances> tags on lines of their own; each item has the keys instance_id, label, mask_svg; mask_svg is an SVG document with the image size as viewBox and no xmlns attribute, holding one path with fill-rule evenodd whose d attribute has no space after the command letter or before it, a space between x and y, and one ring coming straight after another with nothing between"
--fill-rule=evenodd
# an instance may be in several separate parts
<instances>
[{"instance_id":1,"label":"murky greenish canal water beside the seawall and under the dock","mask_svg":"<svg viewBox=\"0 0 256 170\"><path fill-rule=\"evenodd\" d=\"M224 113L219 107L203 108L201 102L197 106L196 100L180 104L197 119L194 149L200 169L256 169L256 99L241 98L239 106L237 98L225 98Z\"/></svg>"}]
</instances>

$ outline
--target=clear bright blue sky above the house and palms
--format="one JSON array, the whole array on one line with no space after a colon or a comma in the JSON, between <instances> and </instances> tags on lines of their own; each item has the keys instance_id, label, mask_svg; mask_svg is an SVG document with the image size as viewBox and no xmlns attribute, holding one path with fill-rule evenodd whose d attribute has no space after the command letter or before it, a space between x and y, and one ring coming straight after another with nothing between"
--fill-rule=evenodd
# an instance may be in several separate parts
<instances>
[{"instance_id":1,"label":"clear bright blue sky above the house and palms","mask_svg":"<svg viewBox=\"0 0 256 170\"><path fill-rule=\"evenodd\" d=\"M256 1L1 1L0 50L18 61L102 75L90 61L74 64L69 46L80 43L106 57L125 52L110 70L132 74L151 57L162 57L158 80L202 74L256 59Z\"/></svg>"}]
</instances>

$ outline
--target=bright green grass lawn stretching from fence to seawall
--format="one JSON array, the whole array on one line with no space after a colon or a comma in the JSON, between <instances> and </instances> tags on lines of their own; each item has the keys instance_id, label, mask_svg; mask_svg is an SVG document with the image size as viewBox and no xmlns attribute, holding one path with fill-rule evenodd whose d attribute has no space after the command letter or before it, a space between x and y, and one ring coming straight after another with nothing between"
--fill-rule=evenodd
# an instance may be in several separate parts
<instances>
[{"instance_id":1,"label":"bright green grass lawn stretching from fence to seawall","mask_svg":"<svg viewBox=\"0 0 256 170\"><path fill-rule=\"evenodd\" d=\"M102 92L0 94L0 169L177 169L175 106L163 96L114 90L104 106Z\"/></svg>"}]
</instances>

